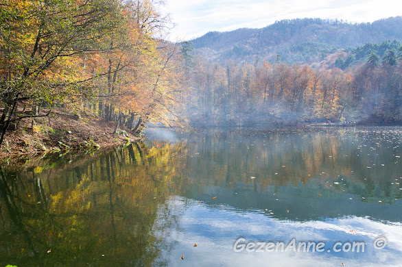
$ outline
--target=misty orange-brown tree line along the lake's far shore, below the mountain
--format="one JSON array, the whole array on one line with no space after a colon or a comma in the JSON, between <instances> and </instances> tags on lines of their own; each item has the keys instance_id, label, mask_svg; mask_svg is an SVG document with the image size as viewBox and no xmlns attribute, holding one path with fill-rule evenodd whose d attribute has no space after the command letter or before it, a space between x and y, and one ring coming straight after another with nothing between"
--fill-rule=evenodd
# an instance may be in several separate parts
<instances>
[{"instance_id":1,"label":"misty orange-brown tree line along the lake's far shore, below the mountain","mask_svg":"<svg viewBox=\"0 0 402 267\"><path fill-rule=\"evenodd\" d=\"M274 64L193 61L189 101L195 125L255 125L356 121L400 123L402 53L374 52L366 62L342 71Z\"/></svg>"}]
</instances>

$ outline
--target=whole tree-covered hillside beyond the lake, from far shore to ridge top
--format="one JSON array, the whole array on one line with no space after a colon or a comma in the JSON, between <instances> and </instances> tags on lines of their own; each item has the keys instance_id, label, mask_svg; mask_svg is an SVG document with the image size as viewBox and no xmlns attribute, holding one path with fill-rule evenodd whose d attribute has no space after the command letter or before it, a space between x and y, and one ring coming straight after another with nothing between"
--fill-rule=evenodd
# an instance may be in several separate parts
<instances>
[{"instance_id":1,"label":"whole tree-covered hillside beyond the lake, from far shore to ridge top","mask_svg":"<svg viewBox=\"0 0 402 267\"><path fill-rule=\"evenodd\" d=\"M193 125L399 124L402 17L303 18L184 42Z\"/></svg>"}]
</instances>

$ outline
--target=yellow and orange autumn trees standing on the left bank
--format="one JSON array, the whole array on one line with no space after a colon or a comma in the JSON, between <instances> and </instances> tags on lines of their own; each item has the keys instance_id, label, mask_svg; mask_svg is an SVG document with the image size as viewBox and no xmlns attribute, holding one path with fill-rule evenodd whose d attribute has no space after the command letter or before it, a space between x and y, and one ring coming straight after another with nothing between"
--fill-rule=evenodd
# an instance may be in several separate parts
<instances>
[{"instance_id":1,"label":"yellow and orange autumn trees standing on the left bank","mask_svg":"<svg viewBox=\"0 0 402 267\"><path fill-rule=\"evenodd\" d=\"M158 0L1 0L0 145L23 118L55 108L141 132L172 124L180 49L163 41Z\"/></svg>"}]
</instances>

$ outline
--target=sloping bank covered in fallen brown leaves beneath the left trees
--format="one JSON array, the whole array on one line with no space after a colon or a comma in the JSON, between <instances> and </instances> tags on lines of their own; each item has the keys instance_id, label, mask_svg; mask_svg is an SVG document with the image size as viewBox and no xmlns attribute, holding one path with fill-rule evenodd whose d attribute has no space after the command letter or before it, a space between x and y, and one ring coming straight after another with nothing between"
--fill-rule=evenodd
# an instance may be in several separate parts
<instances>
[{"instance_id":1,"label":"sloping bank covered in fallen brown leaves beneath the left trees","mask_svg":"<svg viewBox=\"0 0 402 267\"><path fill-rule=\"evenodd\" d=\"M56 111L47 117L24 118L7 131L0 157L43 153L85 152L140 140L126 127L89 115Z\"/></svg>"}]
</instances>

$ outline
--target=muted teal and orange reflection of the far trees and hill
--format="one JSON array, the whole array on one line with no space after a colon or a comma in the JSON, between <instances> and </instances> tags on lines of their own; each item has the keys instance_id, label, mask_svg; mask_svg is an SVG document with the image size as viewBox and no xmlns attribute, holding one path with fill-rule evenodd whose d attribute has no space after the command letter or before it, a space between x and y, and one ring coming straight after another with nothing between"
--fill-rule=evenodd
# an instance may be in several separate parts
<instances>
[{"instance_id":1,"label":"muted teal and orange reflection of the far trees and hill","mask_svg":"<svg viewBox=\"0 0 402 267\"><path fill-rule=\"evenodd\" d=\"M185 162L194 180L189 198L219 195L213 203L239 209L275 206L280 219L402 220L399 131L241 130L193 139L199 142Z\"/></svg>"}]
</instances>

